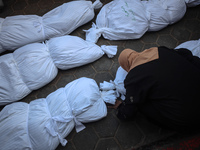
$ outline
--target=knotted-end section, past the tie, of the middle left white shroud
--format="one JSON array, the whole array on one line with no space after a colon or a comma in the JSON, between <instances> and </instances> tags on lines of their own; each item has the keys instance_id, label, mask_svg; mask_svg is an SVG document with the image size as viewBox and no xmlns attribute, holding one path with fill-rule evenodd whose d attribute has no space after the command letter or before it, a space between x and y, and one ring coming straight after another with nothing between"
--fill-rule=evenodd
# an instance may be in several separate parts
<instances>
[{"instance_id":1,"label":"knotted-end section, past the tie, of the middle left white shroud","mask_svg":"<svg viewBox=\"0 0 200 150\"><path fill-rule=\"evenodd\" d=\"M77 36L62 36L46 41L55 65L62 70L78 67L93 62L105 53L112 58L117 53L117 46L98 45ZM66 50L67 49L67 50Z\"/></svg>"}]
</instances>

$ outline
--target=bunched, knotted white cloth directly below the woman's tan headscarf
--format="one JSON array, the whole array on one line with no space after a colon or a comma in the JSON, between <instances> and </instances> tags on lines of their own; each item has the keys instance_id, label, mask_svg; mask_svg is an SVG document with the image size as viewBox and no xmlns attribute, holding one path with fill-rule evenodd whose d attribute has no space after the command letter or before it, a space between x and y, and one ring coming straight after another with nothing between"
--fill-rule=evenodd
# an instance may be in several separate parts
<instances>
[{"instance_id":1,"label":"bunched, knotted white cloth directly below the woman's tan headscarf","mask_svg":"<svg viewBox=\"0 0 200 150\"><path fill-rule=\"evenodd\" d=\"M121 97L122 100L125 100L126 89L124 87L124 80L126 75L128 74L121 66L117 69L117 73L114 81L110 80L110 82L104 81L100 83L100 89L102 92L110 93L110 100L106 101L110 104L115 104L115 100L113 99L113 91L115 91L116 97ZM108 94L109 97L109 94Z\"/></svg>"}]
</instances>

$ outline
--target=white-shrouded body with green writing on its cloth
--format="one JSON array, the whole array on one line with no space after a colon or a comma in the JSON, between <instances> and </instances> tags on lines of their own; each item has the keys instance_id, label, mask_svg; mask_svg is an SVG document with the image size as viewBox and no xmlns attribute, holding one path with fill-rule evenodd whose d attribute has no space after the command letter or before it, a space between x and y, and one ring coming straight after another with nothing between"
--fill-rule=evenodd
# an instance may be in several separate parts
<instances>
[{"instance_id":1,"label":"white-shrouded body with green writing on its cloth","mask_svg":"<svg viewBox=\"0 0 200 150\"><path fill-rule=\"evenodd\" d=\"M101 35L109 40L138 39L146 31L158 31L180 20L184 0L114 0L104 5L86 40L96 43Z\"/></svg>"}]
</instances>

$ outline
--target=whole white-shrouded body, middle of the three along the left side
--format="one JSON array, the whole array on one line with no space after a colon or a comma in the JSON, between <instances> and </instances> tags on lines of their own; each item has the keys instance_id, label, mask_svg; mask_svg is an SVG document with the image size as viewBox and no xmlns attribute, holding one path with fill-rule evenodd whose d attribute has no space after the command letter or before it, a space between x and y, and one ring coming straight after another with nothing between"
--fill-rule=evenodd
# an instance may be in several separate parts
<instances>
[{"instance_id":1,"label":"whole white-shrouded body, middle of the three along the left side","mask_svg":"<svg viewBox=\"0 0 200 150\"><path fill-rule=\"evenodd\" d=\"M105 53L111 57L116 46L99 47L77 36L52 38L23 46L0 56L0 105L22 99L52 81L59 69L91 63Z\"/></svg>"}]
</instances>

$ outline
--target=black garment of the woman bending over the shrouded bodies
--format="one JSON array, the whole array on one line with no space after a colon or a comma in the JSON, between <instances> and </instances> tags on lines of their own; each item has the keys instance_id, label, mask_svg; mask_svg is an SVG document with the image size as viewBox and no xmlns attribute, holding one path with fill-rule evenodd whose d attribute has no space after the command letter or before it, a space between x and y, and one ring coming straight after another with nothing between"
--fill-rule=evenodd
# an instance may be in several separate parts
<instances>
[{"instance_id":1,"label":"black garment of the woman bending over the shrouded bodies","mask_svg":"<svg viewBox=\"0 0 200 150\"><path fill-rule=\"evenodd\" d=\"M128 119L139 110L174 129L200 125L200 58L186 49L159 47L158 53L126 76L126 99L117 116Z\"/></svg>"}]
</instances>

